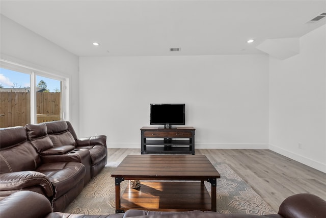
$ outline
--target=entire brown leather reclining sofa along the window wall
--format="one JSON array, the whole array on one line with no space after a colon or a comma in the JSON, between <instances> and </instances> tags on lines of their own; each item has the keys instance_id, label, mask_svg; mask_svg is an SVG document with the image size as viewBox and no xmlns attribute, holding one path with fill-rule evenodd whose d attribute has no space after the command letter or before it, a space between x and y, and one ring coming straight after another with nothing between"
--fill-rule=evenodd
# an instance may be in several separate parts
<instances>
[{"instance_id":1,"label":"entire brown leather reclining sofa along the window wall","mask_svg":"<svg viewBox=\"0 0 326 218\"><path fill-rule=\"evenodd\" d=\"M77 138L66 121L0 129L0 198L41 193L63 211L105 166L106 136Z\"/></svg>"}]
</instances>

